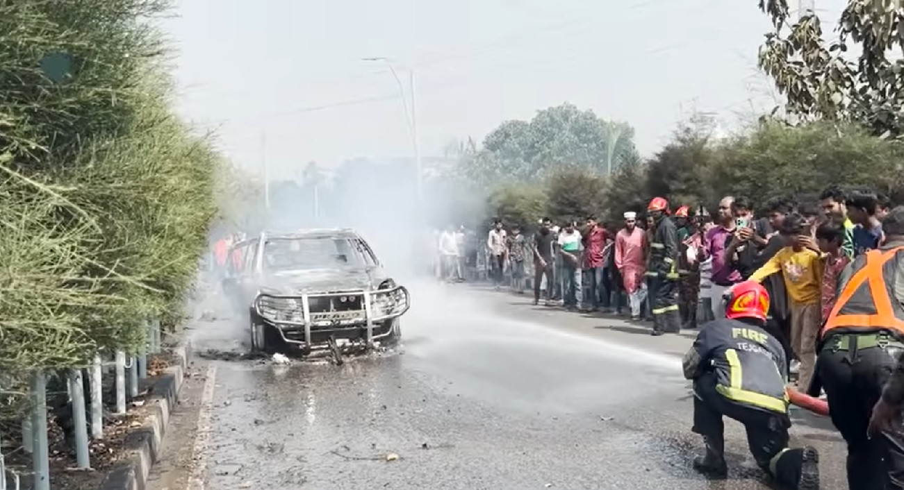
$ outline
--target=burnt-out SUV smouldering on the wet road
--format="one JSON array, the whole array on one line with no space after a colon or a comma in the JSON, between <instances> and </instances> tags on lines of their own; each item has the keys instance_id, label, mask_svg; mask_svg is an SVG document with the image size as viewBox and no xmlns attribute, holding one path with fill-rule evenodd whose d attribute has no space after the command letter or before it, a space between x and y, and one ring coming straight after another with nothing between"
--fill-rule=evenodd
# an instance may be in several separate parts
<instances>
[{"instance_id":1,"label":"burnt-out SUV smouldering on the wet road","mask_svg":"<svg viewBox=\"0 0 904 490\"><path fill-rule=\"evenodd\" d=\"M232 246L223 289L249 311L251 348L268 353L400 342L408 290L352 229L263 233Z\"/></svg>"}]
</instances>

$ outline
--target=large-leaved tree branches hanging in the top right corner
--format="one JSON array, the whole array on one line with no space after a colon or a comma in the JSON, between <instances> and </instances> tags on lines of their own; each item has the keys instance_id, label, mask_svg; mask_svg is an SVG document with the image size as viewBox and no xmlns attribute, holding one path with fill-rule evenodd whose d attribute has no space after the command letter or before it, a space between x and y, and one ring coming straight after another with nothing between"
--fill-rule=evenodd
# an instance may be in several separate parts
<instances>
[{"instance_id":1,"label":"large-leaved tree branches hanging in the top right corner","mask_svg":"<svg viewBox=\"0 0 904 490\"><path fill-rule=\"evenodd\" d=\"M904 125L904 8L899 2L849 0L837 41L824 42L819 17L789 25L787 0L759 0L774 31L759 51L759 66L786 97L786 111L802 121L855 122L873 134L898 137ZM846 58L856 47L860 56Z\"/></svg>"}]
</instances>

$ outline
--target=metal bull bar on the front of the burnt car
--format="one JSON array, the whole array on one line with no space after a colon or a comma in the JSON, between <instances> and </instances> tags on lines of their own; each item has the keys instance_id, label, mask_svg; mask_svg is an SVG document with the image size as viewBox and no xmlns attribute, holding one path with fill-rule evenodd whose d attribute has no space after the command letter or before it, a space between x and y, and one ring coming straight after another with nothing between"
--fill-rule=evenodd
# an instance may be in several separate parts
<instances>
[{"instance_id":1,"label":"metal bull bar on the front of the burnt car","mask_svg":"<svg viewBox=\"0 0 904 490\"><path fill-rule=\"evenodd\" d=\"M334 310L334 301L362 298L360 310ZM329 311L311 311L312 300L330 300ZM313 327L354 327L364 324L367 329L367 344L373 340L373 325L403 315L410 308L410 294L404 286L376 291L339 291L315 294L269 294L259 292L254 300L254 310L261 319L277 327L302 327L305 329L304 342L287 338L278 328L279 334L288 343L305 344L312 347Z\"/></svg>"}]
</instances>

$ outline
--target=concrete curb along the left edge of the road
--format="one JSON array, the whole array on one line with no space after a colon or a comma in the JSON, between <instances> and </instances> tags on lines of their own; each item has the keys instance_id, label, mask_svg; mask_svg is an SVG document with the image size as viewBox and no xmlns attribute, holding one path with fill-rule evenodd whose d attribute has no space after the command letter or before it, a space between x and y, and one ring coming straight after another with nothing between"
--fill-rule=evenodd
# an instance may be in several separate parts
<instances>
[{"instance_id":1,"label":"concrete curb along the left edge of the road","mask_svg":"<svg viewBox=\"0 0 904 490\"><path fill-rule=\"evenodd\" d=\"M179 391L192 356L191 343L183 339L173 349L177 359L175 365L166 368L165 373L151 387L151 399L147 406L150 414L145 424L132 431L126 439L128 453L125 461L118 464L104 477L100 490L145 490L151 467L156 462L160 444L164 439Z\"/></svg>"}]
</instances>

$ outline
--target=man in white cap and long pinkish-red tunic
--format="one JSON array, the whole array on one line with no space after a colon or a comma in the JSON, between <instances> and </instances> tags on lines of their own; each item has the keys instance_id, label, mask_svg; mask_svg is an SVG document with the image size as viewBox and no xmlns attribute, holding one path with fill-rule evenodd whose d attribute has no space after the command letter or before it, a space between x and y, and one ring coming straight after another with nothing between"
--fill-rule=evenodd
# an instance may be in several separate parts
<instances>
[{"instance_id":1,"label":"man in white cap and long pinkish-red tunic","mask_svg":"<svg viewBox=\"0 0 904 490\"><path fill-rule=\"evenodd\" d=\"M636 227L637 213L625 213L625 227L616 235L616 268L621 273L628 303L631 306L631 319L640 319L640 307L646 298L644 273L646 258L644 256L646 235L644 230Z\"/></svg>"}]
</instances>

